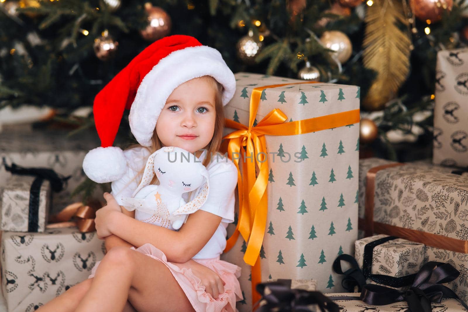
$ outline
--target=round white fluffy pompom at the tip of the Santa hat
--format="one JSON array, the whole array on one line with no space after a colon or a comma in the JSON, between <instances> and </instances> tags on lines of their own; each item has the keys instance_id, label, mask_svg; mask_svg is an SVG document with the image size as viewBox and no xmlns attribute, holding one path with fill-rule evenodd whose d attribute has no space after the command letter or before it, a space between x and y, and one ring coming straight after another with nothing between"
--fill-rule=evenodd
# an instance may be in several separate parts
<instances>
[{"instance_id":1,"label":"round white fluffy pompom at the tip of the Santa hat","mask_svg":"<svg viewBox=\"0 0 468 312\"><path fill-rule=\"evenodd\" d=\"M83 160L83 170L89 179L97 183L120 179L127 168L124 152L116 146L96 147Z\"/></svg>"}]
</instances>

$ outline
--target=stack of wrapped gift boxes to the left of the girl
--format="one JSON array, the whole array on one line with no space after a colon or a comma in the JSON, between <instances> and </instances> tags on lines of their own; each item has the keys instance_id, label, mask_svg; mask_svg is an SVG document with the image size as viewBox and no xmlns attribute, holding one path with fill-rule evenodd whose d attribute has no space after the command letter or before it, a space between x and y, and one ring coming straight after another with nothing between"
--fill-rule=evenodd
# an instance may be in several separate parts
<instances>
[{"instance_id":1,"label":"stack of wrapped gift boxes to the left of the girl","mask_svg":"<svg viewBox=\"0 0 468 312\"><path fill-rule=\"evenodd\" d=\"M93 143L70 140L65 131L0 133L1 291L8 312L36 310L85 280L102 259L95 231L59 214L90 209L73 204L70 194L84 180L81 164Z\"/></svg>"}]
</instances>

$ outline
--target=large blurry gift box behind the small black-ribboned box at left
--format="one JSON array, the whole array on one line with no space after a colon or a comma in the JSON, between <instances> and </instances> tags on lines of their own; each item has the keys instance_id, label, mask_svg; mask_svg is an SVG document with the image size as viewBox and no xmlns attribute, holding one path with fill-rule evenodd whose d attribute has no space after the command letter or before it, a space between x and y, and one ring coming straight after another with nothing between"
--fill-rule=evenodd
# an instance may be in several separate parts
<instances>
[{"instance_id":1,"label":"large blurry gift box behind the small black-ribboned box at left","mask_svg":"<svg viewBox=\"0 0 468 312\"><path fill-rule=\"evenodd\" d=\"M0 132L0 163L50 168L62 176L71 175L64 189L53 194L51 209L55 213L73 203L71 193L86 179L83 159L89 150L99 145L95 131L83 131L80 136L68 137L68 130L13 131L6 128ZM11 176L1 165L0 187L5 186Z\"/></svg>"}]
</instances>

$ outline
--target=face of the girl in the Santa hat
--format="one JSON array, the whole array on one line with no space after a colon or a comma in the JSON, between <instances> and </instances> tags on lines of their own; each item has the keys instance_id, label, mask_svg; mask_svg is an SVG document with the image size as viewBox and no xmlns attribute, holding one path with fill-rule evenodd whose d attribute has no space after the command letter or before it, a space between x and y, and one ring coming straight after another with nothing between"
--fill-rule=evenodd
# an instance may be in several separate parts
<instances>
[{"instance_id":1,"label":"face of the girl in the Santa hat","mask_svg":"<svg viewBox=\"0 0 468 312\"><path fill-rule=\"evenodd\" d=\"M195 153L210 143L215 118L214 88L209 81L194 78L172 91L156 122L156 134L164 146Z\"/></svg>"}]
</instances>

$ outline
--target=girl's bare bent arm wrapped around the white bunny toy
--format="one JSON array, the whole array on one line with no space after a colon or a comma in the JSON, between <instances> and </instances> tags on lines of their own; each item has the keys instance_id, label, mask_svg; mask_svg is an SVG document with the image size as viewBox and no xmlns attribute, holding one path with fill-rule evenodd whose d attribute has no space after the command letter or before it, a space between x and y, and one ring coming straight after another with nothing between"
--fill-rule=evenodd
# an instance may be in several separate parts
<instances>
[{"instance_id":1,"label":"girl's bare bent arm wrapped around the white bunny toy","mask_svg":"<svg viewBox=\"0 0 468 312\"><path fill-rule=\"evenodd\" d=\"M197 210L177 231L135 220L118 211L109 215L109 231L134 246L150 243L161 249L168 261L183 263L195 256L211 239L221 217Z\"/></svg>"}]
</instances>

